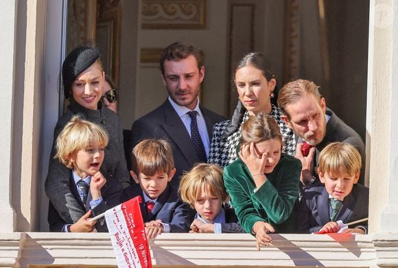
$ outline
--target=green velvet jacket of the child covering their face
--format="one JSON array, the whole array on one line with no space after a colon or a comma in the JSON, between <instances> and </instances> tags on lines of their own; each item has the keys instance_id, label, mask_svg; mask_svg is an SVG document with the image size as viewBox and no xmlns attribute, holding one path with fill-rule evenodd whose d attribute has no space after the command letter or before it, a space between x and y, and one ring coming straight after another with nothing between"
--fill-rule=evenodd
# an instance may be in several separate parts
<instances>
[{"instance_id":1,"label":"green velvet jacket of the child covering their face","mask_svg":"<svg viewBox=\"0 0 398 268\"><path fill-rule=\"evenodd\" d=\"M231 204L246 232L251 233L256 221L282 223L290 216L299 196L301 163L284 155L267 181L255 190L246 165L238 159L224 168L224 184Z\"/></svg>"}]
</instances>

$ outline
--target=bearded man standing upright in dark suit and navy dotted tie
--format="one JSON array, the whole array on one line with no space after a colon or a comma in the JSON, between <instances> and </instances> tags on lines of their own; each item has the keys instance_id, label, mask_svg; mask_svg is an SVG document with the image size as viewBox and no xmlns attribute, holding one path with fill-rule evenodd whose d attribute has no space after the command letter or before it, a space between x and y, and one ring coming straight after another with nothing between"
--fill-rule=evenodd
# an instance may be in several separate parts
<instances>
[{"instance_id":1,"label":"bearded man standing upright in dark suit and navy dotted tie","mask_svg":"<svg viewBox=\"0 0 398 268\"><path fill-rule=\"evenodd\" d=\"M161 77L169 97L132 124L132 147L145 138L163 138L172 145L178 188L180 175L196 162L207 162L213 125L224 118L199 105L204 79L203 51L180 42L161 54ZM194 111L194 112L193 112Z\"/></svg>"}]
</instances>

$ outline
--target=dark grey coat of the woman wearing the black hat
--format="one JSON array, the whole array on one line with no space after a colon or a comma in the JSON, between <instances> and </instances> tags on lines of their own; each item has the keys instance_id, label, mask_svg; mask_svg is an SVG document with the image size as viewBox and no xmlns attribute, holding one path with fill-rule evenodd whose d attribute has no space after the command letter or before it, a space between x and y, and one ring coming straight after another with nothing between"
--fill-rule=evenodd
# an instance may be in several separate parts
<instances>
[{"instance_id":1,"label":"dark grey coat of the woman wearing the black hat","mask_svg":"<svg viewBox=\"0 0 398 268\"><path fill-rule=\"evenodd\" d=\"M59 213L61 219L67 223L78 221L85 214L85 210L76 201L75 195L71 191L69 182L71 170L62 165L58 159L55 159L54 155L56 154L56 138L75 114L80 114L84 119L101 125L108 132L109 142L100 169L106 178L106 185L114 187L113 191L121 192L121 188L131 184L124 156L123 130L117 114L104 106L99 110L90 110L78 103L72 103L67 113L58 120L55 127L49 171L45 180L45 192L51 204Z\"/></svg>"}]
</instances>

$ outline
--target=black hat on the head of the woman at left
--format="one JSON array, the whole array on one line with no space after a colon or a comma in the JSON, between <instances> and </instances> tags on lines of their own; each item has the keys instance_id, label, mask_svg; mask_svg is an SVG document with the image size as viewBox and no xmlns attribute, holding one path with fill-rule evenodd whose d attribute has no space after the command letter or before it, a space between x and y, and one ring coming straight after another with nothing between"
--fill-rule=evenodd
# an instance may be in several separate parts
<instances>
[{"instance_id":1,"label":"black hat on the head of the woman at left","mask_svg":"<svg viewBox=\"0 0 398 268\"><path fill-rule=\"evenodd\" d=\"M76 47L68 54L62 64L62 88L64 90L65 99L71 99L72 84L73 81L76 80L76 77L89 68L94 62L100 64L102 69L100 49L94 45Z\"/></svg>"}]
</instances>

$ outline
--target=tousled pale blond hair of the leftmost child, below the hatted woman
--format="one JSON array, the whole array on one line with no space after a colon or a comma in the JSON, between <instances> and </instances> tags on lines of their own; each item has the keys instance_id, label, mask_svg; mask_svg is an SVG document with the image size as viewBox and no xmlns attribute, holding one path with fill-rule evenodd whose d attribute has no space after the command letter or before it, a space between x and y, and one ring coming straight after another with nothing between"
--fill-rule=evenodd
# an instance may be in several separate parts
<instances>
[{"instance_id":1,"label":"tousled pale blond hair of the leftmost child, below the hatted woman","mask_svg":"<svg viewBox=\"0 0 398 268\"><path fill-rule=\"evenodd\" d=\"M56 156L62 164L73 169L71 156L81 149L89 147L92 143L100 146L108 145L108 134L100 126L75 115L65 125L56 140Z\"/></svg>"}]
</instances>

